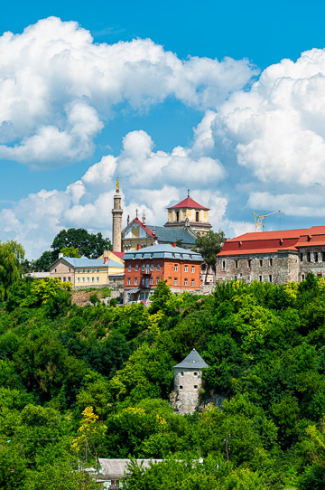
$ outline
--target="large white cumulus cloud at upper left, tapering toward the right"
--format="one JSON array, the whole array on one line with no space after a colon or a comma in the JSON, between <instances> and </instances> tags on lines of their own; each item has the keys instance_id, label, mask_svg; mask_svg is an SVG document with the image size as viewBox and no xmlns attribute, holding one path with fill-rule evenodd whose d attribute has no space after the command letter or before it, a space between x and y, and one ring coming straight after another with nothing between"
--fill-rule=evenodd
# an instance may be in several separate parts
<instances>
[{"instance_id":1,"label":"large white cumulus cloud at upper left, tapering toward the right","mask_svg":"<svg viewBox=\"0 0 325 490\"><path fill-rule=\"evenodd\" d=\"M42 19L0 36L0 158L68 165L92 154L116 104L215 107L254 74L247 60L182 61L150 39L98 44L76 22Z\"/></svg>"}]
</instances>

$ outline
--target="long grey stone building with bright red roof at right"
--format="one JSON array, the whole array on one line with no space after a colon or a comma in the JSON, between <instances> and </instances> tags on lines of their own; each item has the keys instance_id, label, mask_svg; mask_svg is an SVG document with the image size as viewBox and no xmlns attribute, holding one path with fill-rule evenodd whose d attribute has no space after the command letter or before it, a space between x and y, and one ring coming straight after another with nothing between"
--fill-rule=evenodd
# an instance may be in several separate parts
<instances>
[{"instance_id":1,"label":"long grey stone building with bright red roof at right","mask_svg":"<svg viewBox=\"0 0 325 490\"><path fill-rule=\"evenodd\" d=\"M227 240L218 253L216 280L302 281L312 272L325 277L325 226L259 231Z\"/></svg>"}]
</instances>

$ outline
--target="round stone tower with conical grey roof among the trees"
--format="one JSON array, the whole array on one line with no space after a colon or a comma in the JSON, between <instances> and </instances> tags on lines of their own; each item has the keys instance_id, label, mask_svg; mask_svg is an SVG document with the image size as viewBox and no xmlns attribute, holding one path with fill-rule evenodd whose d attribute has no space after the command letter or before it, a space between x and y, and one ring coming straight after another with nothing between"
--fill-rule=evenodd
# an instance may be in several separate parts
<instances>
[{"instance_id":1,"label":"round stone tower with conical grey roof among the trees","mask_svg":"<svg viewBox=\"0 0 325 490\"><path fill-rule=\"evenodd\" d=\"M193 349L181 363L174 366L174 391L171 395L173 409L181 413L193 413L199 409L202 369L209 365Z\"/></svg>"}]
</instances>

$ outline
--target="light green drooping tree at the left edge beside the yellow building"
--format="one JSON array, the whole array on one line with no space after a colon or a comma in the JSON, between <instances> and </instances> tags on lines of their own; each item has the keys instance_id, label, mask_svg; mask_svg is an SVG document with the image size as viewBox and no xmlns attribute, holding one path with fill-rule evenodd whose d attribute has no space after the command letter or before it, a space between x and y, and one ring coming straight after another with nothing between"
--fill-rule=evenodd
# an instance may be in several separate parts
<instances>
[{"instance_id":1,"label":"light green drooping tree at the left edge beside the yellow building","mask_svg":"<svg viewBox=\"0 0 325 490\"><path fill-rule=\"evenodd\" d=\"M8 287L19 280L24 250L20 243L10 240L0 243L0 298L6 297Z\"/></svg>"}]
</instances>

